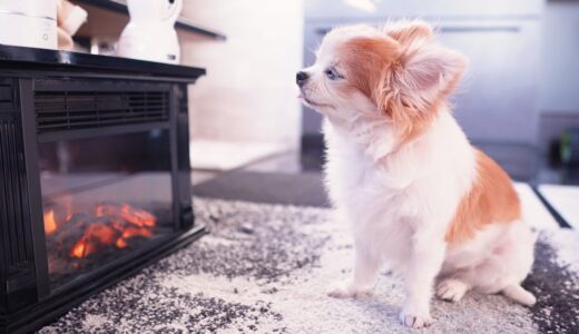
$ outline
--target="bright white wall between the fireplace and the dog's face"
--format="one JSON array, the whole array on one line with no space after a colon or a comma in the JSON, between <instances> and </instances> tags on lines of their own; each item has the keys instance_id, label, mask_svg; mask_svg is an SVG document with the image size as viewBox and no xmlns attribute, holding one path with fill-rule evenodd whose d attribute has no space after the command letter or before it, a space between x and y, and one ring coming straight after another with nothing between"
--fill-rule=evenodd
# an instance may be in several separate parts
<instances>
[{"instance_id":1,"label":"bright white wall between the fireplace and the dog's face","mask_svg":"<svg viewBox=\"0 0 579 334\"><path fill-rule=\"evenodd\" d=\"M297 148L303 0L185 0L183 14L226 41L179 32L185 65L207 68L189 94L192 136Z\"/></svg>"}]
</instances>

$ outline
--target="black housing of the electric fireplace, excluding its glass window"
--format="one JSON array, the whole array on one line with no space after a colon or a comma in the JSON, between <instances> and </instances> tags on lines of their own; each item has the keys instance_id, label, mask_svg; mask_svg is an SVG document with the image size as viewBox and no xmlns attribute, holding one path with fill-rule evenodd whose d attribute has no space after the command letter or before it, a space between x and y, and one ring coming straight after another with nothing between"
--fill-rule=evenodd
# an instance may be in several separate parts
<instances>
[{"instance_id":1,"label":"black housing of the electric fireplace, excluding its glass window","mask_svg":"<svg viewBox=\"0 0 579 334\"><path fill-rule=\"evenodd\" d=\"M200 68L0 45L0 333L33 331L205 234L192 208L187 101L187 86L203 75ZM101 148L90 149L107 161L108 151L129 154L115 149L129 145L115 138L131 134L166 138L148 148L167 156L169 232L51 286L39 147L91 139ZM127 169L155 163L155 156L131 155L137 158Z\"/></svg>"}]
</instances>

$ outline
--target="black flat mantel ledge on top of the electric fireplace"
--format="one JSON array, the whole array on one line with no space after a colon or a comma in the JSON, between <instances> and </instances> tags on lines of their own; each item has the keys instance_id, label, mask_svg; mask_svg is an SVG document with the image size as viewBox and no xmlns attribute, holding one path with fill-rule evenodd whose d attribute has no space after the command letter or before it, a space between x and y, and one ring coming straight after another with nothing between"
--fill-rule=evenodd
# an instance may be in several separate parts
<instances>
[{"instance_id":1,"label":"black flat mantel ledge on top of the electric fireplace","mask_svg":"<svg viewBox=\"0 0 579 334\"><path fill-rule=\"evenodd\" d=\"M0 69L108 72L192 84L206 73L197 67L7 45L0 45Z\"/></svg>"}]
</instances>

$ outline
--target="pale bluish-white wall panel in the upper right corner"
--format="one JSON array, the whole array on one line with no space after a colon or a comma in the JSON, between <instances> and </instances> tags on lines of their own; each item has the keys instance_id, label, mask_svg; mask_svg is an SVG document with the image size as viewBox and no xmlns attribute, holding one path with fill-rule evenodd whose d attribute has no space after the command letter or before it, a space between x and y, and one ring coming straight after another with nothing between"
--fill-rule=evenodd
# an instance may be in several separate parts
<instances>
[{"instance_id":1,"label":"pale bluish-white wall panel in the upper right corner","mask_svg":"<svg viewBox=\"0 0 579 334\"><path fill-rule=\"evenodd\" d=\"M547 1L541 111L579 114L579 2Z\"/></svg>"}]
</instances>

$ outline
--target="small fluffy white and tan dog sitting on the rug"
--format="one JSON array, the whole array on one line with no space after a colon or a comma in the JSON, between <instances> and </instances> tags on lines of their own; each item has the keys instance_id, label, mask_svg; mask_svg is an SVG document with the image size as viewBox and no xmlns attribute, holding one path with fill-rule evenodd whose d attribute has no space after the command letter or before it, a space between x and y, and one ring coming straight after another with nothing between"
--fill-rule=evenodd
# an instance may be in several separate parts
<instances>
[{"instance_id":1,"label":"small fluffy white and tan dog sitting on the rug","mask_svg":"<svg viewBox=\"0 0 579 334\"><path fill-rule=\"evenodd\" d=\"M366 292L385 263L405 278L400 320L411 327L432 322L434 292L532 305L520 284L536 235L509 176L469 144L446 104L467 59L422 21L336 28L316 56L296 80L325 116L327 190L355 245L353 277L328 294Z\"/></svg>"}]
</instances>

